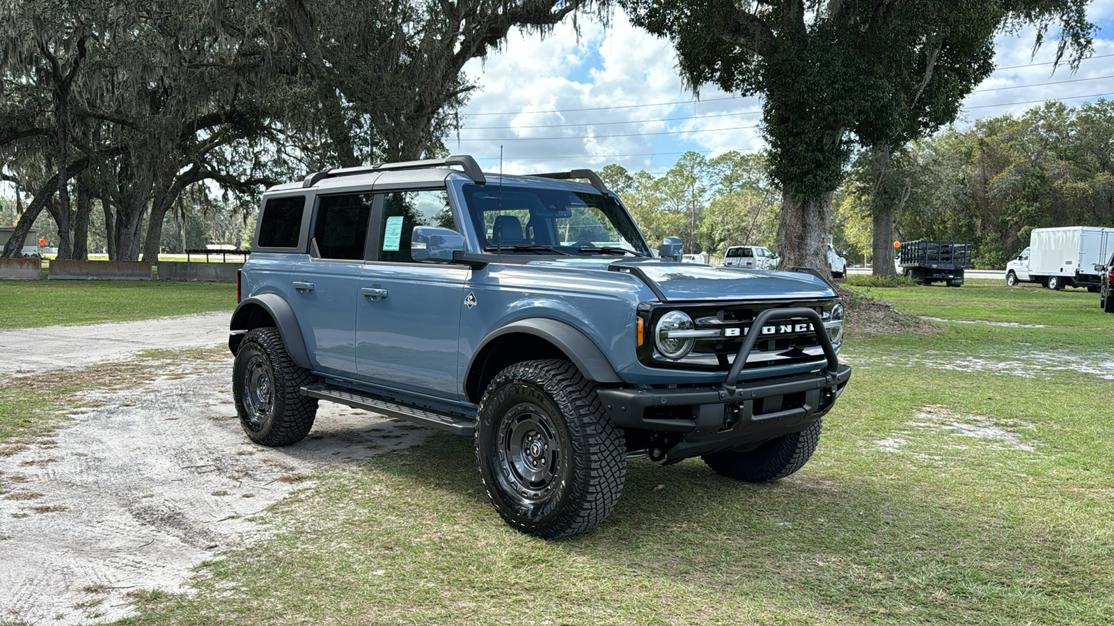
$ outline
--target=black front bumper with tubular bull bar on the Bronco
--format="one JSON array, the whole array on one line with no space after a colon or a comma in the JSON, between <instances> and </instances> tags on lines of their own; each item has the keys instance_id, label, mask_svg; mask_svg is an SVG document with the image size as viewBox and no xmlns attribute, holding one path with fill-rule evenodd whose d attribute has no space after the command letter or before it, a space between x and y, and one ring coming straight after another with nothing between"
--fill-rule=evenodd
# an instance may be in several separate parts
<instances>
[{"instance_id":1,"label":"black front bumper with tubular bull bar on the Bronco","mask_svg":"<svg viewBox=\"0 0 1114 626\"><path fill-rule=\"evenodd\" d=\"M839 364L811 309L771 309L755 319L754 327L778 319L808 317L828 362L817 373L737 384L758 333L739 350L726 379L719 385L688 389L599 389L607 417L616 427L665 433L667 449L652 457L676 462L723 450L746 448L800 432L836 404L851 378L851 368Z\"/></svg>"}]
</instances>

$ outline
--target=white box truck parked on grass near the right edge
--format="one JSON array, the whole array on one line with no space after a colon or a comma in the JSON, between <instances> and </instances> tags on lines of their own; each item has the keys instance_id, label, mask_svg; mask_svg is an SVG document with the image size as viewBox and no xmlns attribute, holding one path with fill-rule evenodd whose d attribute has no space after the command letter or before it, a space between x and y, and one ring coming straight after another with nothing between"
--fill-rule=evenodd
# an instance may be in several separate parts
<instances>
[{"instance_id":1,"label":"white box truck parked on grass near the right edge","mask_svg":"<svg viewBox=\"0 0 1114 626\"><path fill-rule=\"evenodd\" d=\"M1035 228L1029 247L1006 265L1006 284L1040 283L1051 290L1086 287L1097 292L1102 265L1114 253L1114 228Z\"/></svg>"}]
</instances>

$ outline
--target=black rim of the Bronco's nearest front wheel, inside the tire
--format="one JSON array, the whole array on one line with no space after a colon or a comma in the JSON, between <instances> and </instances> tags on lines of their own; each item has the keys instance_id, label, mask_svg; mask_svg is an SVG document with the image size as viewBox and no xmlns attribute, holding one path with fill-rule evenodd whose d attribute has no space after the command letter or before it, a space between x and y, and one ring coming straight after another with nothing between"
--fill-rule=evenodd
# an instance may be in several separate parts
<instances>
[{"instance_id":1,"label":"black rim of the Bronco's nearest front wheel, inside the tire","mask_svg":"<svg viewBox=\"0 0 1114 626\"><path fill-rule=\"evenodd\" d=\"M499 422L499 481L524 508L547 501L560 483L564 453L556 426L540 407L524 402Z\"/></svg>"}]
</instances>

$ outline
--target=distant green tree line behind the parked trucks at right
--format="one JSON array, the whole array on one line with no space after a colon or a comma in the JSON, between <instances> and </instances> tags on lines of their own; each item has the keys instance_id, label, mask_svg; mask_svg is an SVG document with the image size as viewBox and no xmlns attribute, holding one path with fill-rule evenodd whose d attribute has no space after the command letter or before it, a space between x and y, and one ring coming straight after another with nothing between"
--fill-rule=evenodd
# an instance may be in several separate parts
<instances>
[{"instance_id":1,"label":"distant green tree line behind the parked trucks at right","mask_svg":"<svg viewBox=\"0 0 1114 626\"><path fill-rule=\"evenodd\" d=\"M1114 227L1114 101L1047 102L948 127L892 155L859 153L833 221L859 258L874 238L876 198L893 211L896 241L970 241L985 268L1005 267L1034 228Z\"/></svg>"}]
</instances>

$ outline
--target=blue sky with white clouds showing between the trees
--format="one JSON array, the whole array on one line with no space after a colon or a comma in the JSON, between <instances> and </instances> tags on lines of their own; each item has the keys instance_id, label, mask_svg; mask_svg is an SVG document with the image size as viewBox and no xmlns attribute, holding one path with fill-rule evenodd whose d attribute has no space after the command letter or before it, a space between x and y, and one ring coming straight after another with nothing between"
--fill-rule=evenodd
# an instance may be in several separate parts
<instances>
[{"instance_id":1,"label":"blue sky with white clouds showing between the trees","mask_svg":"<svg viewBox=\"0 0 1114 626\"><path fill-rule=\"evenodd\" d=\"M1034 32L1001 36L999 68L964 102L959 124L1020 113L1048 99L1069 105L1114 98L1114 0L1088 11L1102 29L1092 58L1072 74L1053 72L1055 42L1032 56ZM618 163L663 174L686 150L709 156L762 149L759 98L734 98L712 86L701 100L683 88L670 43L632 27L620 12L604 28L579 20L546 38L512 33L504 49L466 72L480 86L461 116L453 154L470 154L488 172L509 174L599 168Z\"/></svg>"}]
</instances>

